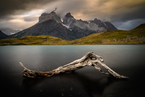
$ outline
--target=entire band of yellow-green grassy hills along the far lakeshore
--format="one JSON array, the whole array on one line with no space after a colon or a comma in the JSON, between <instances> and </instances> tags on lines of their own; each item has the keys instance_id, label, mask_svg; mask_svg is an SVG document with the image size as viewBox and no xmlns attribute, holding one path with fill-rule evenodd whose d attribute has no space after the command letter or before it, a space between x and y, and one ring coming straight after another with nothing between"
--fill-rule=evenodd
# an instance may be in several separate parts
<instances>
[{"instance_id":1,"label":"entire band of yellow-green grassy hills along the far lakeshore","mask_svg":"<svg viewBox=\"0 0 145 97\"><path fill-rule=\"evenodd\" d=\"M88 45L88 44L145 44L145 24L130 31L115 30L94 33L89 36L67 41L49 35L26 36L2 39L0 45Z\"/></svg>"}]
</instances>

